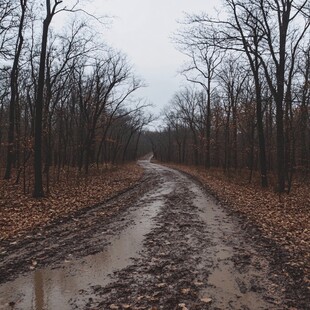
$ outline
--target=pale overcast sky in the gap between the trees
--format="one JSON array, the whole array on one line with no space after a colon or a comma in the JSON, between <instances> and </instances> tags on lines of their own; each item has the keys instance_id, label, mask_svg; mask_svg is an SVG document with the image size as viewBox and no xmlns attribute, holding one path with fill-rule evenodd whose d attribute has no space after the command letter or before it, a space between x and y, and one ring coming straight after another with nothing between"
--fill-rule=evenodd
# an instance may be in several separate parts
<instances>
[{"instance_id":1,"label":"pale overcast sky in the gap between the trees","mask_svg":"<svg viewBox=\"0 0 310 310\"><path fill-rule=\"evenodd\" d=\"M87 10L114 16L103 31L106 42L127 54L148 87L138 96L153 103L155 113L166 106L183 79L178 76L185 57L171 43L184 12L214 12L221 0L91 0Z\"/></svg>"}]
</instances>

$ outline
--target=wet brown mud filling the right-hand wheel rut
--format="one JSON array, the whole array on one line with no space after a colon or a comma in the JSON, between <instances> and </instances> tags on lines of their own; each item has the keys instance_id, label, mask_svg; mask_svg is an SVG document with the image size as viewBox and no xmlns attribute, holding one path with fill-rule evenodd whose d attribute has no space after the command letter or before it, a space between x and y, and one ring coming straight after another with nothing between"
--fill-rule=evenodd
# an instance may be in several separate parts
<instances>
[{"instance_id":1,"label":"wet brown mud filling the right-hand wheel rut","mask_svg":"<svg viewBox=\"0 0 310 310\"><path fill-rule=\"evenodd\" d=\"M201 297L211 298L215 309L273 308L272 303L262 298L262 291L268 286L265 269L268 263L240 239L242 232L237 223L214 199L207 197L195 184L191 186L191 191L195 195L194 205L200 210L200 218L207 225L212 240L205 255L209 259L212 257L213 266L210 268L208 287L200 292ZM234 264L235 255L245 252L251 254L251 259L246 270L239 271ZM261 267L256 268L255 264Z\"/></svg>"}]
</instances>

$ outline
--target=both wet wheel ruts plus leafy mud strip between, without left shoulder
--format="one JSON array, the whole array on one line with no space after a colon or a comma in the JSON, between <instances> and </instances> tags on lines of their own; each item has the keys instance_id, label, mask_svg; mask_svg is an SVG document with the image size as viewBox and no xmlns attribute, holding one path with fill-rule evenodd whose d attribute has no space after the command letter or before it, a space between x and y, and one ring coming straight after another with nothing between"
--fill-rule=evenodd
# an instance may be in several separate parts
<instances>
[{"instance_id":1,"label":"both wet wheel ruts plus leafy mud strip between, without left shoulder","mask_svg":"<svg viewBox=\"0 0 310 310\"><path fill-rule=\"evenodd\" d=\"M239 218L184 174L141 165L159 184L112 226L99 222L89 246L109 245L0 285L0 309L286 309Z\"/></svg>"}]
</instances>

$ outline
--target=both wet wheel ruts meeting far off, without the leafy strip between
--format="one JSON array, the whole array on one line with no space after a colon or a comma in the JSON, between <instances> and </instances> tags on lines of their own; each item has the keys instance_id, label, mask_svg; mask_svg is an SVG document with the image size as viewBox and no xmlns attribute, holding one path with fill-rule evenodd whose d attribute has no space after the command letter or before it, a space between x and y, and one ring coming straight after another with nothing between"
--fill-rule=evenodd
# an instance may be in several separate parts
<instances>
[{"instance_id":1,"label":"both wet wheel ruts meeting far off, without the leafy strip between","mask_svg":"<svg viewBox=\"0 0 310 310\"><path fill-rule=\"evenodd\" d=\"M213 309L278 309L264 299L272 294L263 291L263 287L270 285L266 270L268 262L242 238L237 221L233 221L215 200L183 174L152 164L148 167L158 172L163 180L161 186L143 195L133 211L128 210L126 219L132 225L118 236L110 237L110 245L105 251L80 260L68 260L61 268L37 270L1 285L0 309L69 310L73 305L75 308L85 305L83 298L94 297L88 294L91 286L105 286L112 282L109 275L129 266L131 258L139 258L145 235L156 227L154 218L164 205L166 195L183 185L190 190L190 199L193 198L207 228L203 230L207 239L205 246L197 247L201 262L196 270L203 274L205 281L200 297L212 300ZM167 180L165 174L170 174ZM84 290L87 290L85 295Z\"/></svg>"}]
</instances>

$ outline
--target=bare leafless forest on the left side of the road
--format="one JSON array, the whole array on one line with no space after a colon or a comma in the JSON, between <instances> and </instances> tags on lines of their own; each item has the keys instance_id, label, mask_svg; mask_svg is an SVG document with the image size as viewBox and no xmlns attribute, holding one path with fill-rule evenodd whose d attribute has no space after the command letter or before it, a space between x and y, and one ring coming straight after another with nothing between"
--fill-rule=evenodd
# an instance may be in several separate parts
<instances>
[{"instance_id":1,"label":"bare leafless forest on the left side of the road","mask_svg":"<svg viewBox=\"0 0 310 310\"><path fill-rule=\"evenodd\" d=\"M56 182L73 167L87 175L90 166L136 159L152 120L134 97L143 81L94 30L104 22L79 1L62 2L0 3L1 177L34 197L49 192L51 174ZM68 13L76 16L65 27L50 27Z\"/></svg>"}]
</instances>

